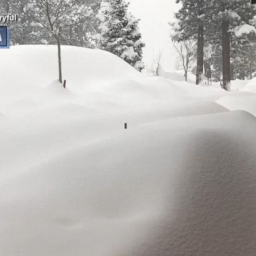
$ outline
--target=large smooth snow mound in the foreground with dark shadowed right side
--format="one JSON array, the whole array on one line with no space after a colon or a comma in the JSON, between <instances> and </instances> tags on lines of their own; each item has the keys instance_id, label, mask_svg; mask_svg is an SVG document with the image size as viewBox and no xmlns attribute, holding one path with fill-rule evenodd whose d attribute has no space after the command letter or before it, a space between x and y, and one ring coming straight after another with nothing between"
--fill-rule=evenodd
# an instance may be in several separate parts
<instances>
[{"instance_id":1,"label":"large smooth snow mound in the foreground with dark shadowed right side","mask_svg":"<svg viewBox=\"0 0 256 256\"><path fill-rule=\"evenodd\" d=\"M43 161L1 185L1 254L254 256L255 129L165 119Z\"/></svg>"}]
</instances>

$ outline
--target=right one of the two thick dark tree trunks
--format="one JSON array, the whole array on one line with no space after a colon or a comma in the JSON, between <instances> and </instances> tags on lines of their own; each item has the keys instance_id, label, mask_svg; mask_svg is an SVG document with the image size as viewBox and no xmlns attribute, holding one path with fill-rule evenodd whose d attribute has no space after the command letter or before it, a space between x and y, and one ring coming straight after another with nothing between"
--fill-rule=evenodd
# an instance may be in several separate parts
<instances>
[{"instance_id":1,"label":"right one of the two thick dark tree trunks","mask_svg":"<svg viewBox=\"0 0 256 256\"><path fill-rule=\"evenodd\" d=\"M228 91L230 85L230 35L227 15L223 16L222 21L222 76L223 89Z\"/></svg>"}]
</instances>

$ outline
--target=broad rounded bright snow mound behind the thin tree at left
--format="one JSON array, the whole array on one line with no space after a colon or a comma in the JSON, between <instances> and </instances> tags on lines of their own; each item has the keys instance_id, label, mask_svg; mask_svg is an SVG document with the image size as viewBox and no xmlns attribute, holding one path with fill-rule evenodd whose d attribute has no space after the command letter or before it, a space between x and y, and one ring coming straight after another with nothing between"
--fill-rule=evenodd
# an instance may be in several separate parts
<instances>
[{"instance_id":1,"label":"broad rounded bright snow mound behind the thin tree at left","mask_svg":"<svg viewBox=\"0 0 256 256\"><path fill-rule=\"evenodd\" d=\"M1 91L8 83L9 90L23 91L21 83L35 90L38 86L52 83L58 77L57 47L55 45L21 45L9 51L1 51L0 68L5 73L1 81ZM140 73L119 57L97 49L62 46L63 79L67 86L87 89L106 79L132 79ZM6 91L6 89L4 89Z\"/></svg>"}]
</instances>

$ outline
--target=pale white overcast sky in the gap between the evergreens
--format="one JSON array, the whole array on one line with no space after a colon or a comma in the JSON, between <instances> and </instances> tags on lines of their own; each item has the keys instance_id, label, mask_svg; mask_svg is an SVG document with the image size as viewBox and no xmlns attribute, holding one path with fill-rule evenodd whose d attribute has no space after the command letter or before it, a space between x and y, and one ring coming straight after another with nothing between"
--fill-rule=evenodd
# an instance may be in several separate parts
<instances>
[{"instance_id":1,"label":"pale white overcast sky in the gap between the evergreens","mask_svg":"<svg viewBox=\"0 0 256 256\"><path fill-rule=\"evenodd\" d=\"M174 67L177 54L170 39L169 22L173 21L173 13L179 9L175 0L130 0L130 11L141 19L139 26L146 47L143 51L146 64L151 63L153 52L163 53L164 69Z\"/></svg>"}]
</instances>

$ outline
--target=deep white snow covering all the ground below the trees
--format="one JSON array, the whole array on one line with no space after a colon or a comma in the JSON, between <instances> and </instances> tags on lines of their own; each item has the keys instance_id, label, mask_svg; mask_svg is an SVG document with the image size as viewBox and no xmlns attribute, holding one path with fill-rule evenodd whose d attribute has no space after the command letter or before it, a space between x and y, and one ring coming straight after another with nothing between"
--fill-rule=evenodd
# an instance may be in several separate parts
<instances>
[{"instance_id":1,"label":"deep white snow covering all the ground below the trees","mask_svg":"<svg viewBox=\"0 0 256 256\"><path fill-rule=\"evenodd\" d=\"M253 80L227 92L63 47L63 89L54 46L0 59L0 255L255 255Z\"/></svg>"}]
</instances>

